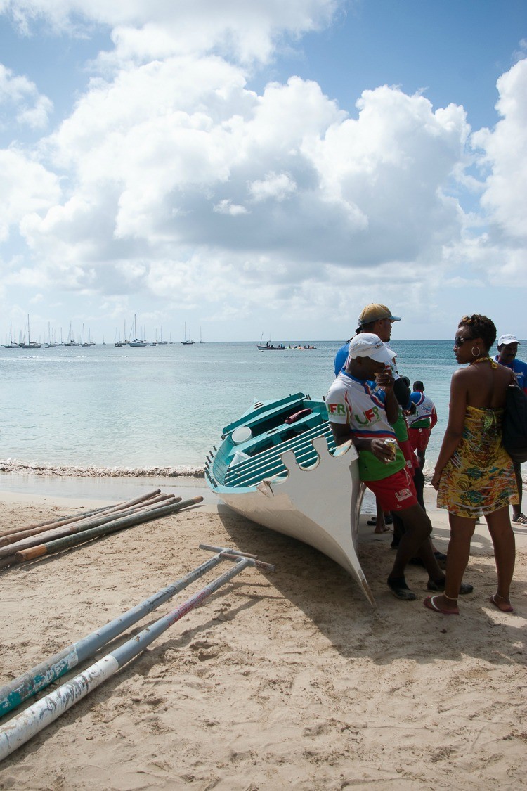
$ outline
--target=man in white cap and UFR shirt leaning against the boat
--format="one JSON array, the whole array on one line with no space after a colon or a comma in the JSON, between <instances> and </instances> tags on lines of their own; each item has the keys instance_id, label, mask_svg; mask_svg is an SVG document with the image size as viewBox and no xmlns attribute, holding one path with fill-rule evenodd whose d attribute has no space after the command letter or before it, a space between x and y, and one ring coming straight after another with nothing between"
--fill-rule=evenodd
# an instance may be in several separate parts
<instances>
[{"instance_id":1,"label":"man in white cap and UFR shirt leaning against the boat","mask_svg":"<svg viewBox=\"0 0 527 791\"><path fill-rule=\"evenodd\" d=\"M326 407L337 445L351 439L359 452L359 475L386 511L397 513L405 532L397 547L388 585L398 599L413 601L405 567L419 557L428 575L428 588L442 590L445 575L435 558L430 519L416 498L412 476L397 444L392 423L399 404L393 393L395 352L378 335L363 332L349 342L348 361L329 388ZM461 592L470 592L465 585Z\"/></svg>"}]
</instances>

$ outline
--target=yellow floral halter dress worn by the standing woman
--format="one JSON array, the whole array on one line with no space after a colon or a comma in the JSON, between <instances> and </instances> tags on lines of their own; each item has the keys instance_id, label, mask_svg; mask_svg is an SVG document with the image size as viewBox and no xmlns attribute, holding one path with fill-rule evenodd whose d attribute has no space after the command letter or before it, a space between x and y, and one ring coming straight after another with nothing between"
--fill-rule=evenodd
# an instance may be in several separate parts
<instances>
[{"instance_id":1,"label":"yellow floral halter dress worn by the standing woman","mask_svg":"<svg viewBox=\"0 0 527 791\"><path fill-rule=\"evenodd\" d=\"M518 504L514 467L502 445L503 409L467 407L463 437L439 480L438 508L475 519Z\"/></svg>"}]
</instances>

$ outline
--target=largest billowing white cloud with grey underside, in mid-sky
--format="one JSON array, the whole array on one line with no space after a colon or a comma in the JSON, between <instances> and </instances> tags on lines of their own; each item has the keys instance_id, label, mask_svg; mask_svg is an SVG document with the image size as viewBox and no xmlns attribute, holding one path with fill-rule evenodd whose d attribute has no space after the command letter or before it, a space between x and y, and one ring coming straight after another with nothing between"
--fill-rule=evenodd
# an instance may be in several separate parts
<instances>
[{"instance_id":1,"label":"largest billowing white cloud with grey underside, in mid-sky","mask_svg":"<svg viewBox=\"0 0 527 791\"><path fill-rule=\"evenodd\" d=\"M240 287L323 278L326 263L440 261L461 236L447 191L465 113L386 86L358 107L351 119L299 78L258 96L217 57L128 66L93 81L47 138L69 197L30 214L23 233L51 278L70 267L70 287L105 293L123 266L142 288L168 248L183 261L228 250Z\"/></svg>"}]
</instances>

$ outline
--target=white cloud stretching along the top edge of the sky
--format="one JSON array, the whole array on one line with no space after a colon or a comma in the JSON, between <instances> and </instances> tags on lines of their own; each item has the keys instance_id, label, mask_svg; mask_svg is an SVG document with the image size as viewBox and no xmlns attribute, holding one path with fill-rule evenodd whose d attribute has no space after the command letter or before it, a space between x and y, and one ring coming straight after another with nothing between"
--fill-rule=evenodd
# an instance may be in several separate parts
<instances>
[{"instance_id":1,"label":"white cloud stretching along the top edge of the sky","mask_svg":"<svg viewBox=\"0 0 527 791\"><path fill-rule=\"evenodd\" d=\"M342 0L2 0L23 32L40 19L82 35L92 23L112 28L117 59L164 59L212 49L240 62L264 62L281 36L329 23Z\"/></svg>"}]
</instances>

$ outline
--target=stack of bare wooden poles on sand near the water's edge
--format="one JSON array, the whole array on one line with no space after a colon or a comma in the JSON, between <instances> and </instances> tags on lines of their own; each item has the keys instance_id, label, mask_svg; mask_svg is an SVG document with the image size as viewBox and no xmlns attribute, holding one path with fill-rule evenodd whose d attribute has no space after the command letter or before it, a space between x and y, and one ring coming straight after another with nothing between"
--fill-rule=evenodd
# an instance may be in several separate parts
<instances>
[{"instance_id":1,"label":"stack of bare wooden poles on sand near the water's edge","mask_svg":"<svg viewBox=\"0 0 527 791\"><path fill-rule=\"evenodd\" d=\"M183 500L156 489L140 498L55 522L0 533L0 569L107 536L197 505L202 497Z\"/></svg>"}]
</instances>

